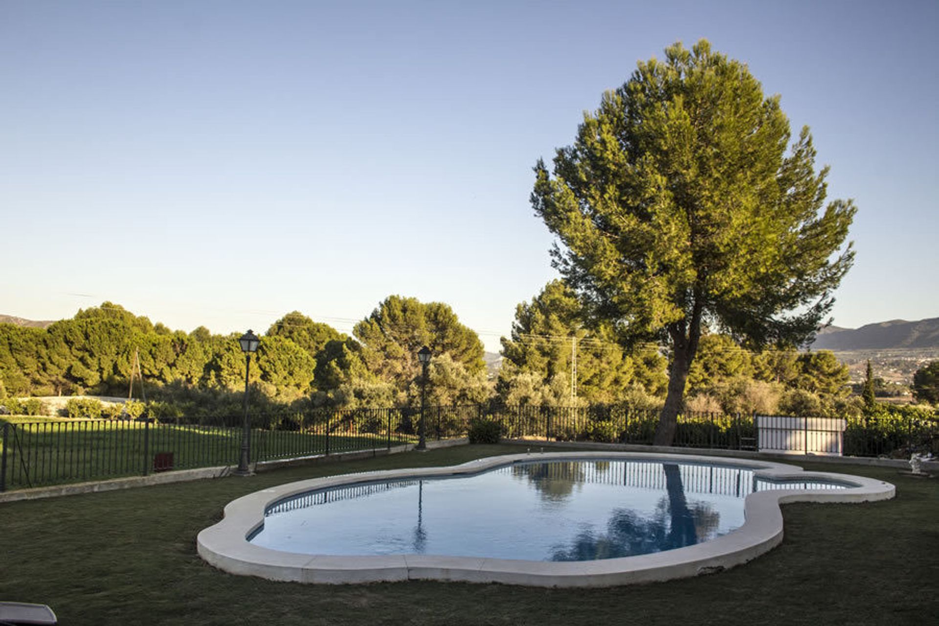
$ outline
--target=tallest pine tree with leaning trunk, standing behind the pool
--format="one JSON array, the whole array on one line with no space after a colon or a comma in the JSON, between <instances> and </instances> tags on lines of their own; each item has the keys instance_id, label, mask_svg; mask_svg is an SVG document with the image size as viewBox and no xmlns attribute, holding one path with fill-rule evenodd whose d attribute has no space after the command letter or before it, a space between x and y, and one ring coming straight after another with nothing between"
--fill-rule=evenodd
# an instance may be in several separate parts
<instances>
[{"instance_id":1,"label":"tallest pine tree with leaning trunk, standing behind the pool","mask_svg":"<svg viewBox=\"0 0 939 626\"><path fill-rule=\"evenodd\" d=\"M703 323L753 348L805 343L854 259L854 206L825 206L808 128L786 154L789 120L744 64L703 39L665 54L584 115L552 173L538 161L531 193L587 319L670 346L657 445L674 437Z\"/></svg>"}]
</instances>

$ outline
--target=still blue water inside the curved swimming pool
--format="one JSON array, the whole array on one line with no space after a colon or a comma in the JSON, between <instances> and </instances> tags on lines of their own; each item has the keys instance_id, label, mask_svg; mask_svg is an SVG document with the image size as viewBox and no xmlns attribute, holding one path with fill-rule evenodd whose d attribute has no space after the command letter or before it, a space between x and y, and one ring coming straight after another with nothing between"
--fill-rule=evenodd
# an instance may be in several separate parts
<instances>
[{"instance_id":1,"label":"still blue water inside the curved swimming pool","mask_svg":"<svg viewBox=\"0 0 939 626\"><path fill-rule=\"evenodd\" d=\"M324 489L280 500L249 541L310 555L440 555L571 561L706 542L744 524L773 482L739 466L660 461L516 463L462 477Z\"/></svg>"}]
</instances>

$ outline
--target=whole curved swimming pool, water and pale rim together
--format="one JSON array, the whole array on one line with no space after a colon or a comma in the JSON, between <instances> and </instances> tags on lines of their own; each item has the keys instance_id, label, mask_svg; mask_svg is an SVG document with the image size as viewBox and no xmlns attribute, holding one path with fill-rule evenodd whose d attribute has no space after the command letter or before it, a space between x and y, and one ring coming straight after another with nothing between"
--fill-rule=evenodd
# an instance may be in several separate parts
<instances>
[{"instance_id":1,"label":"whole curved swimming pool, water and pale rim together","mask_svg":"<svg viewBox=\"0 0 939 626\"><path fill-rule=\"evenodd\" d=\"M255 492L226 506L198 549L226 572L274 580L599 587L746 562L781 541L783 502L892 496L882 481L762 461L517 454Z\"/></svg>"}]
</instances>

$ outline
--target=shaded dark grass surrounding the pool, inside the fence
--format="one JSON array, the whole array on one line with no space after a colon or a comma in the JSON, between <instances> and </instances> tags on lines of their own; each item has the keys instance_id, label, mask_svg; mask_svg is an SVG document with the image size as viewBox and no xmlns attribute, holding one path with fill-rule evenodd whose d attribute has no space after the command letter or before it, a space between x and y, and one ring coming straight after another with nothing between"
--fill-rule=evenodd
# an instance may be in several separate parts
<instances>
[{"instance_id":1,"label":"shaded dark grass surrounding the pool, inside the fence","mask_svg":"<svg viewBox=\"0 0 939 626\"><path fill-rule=\"evenodd\" d=\"M329 474L443 466L516 452L461 446L278 470L248 479L0 504L0 600L82 624L922 624L939 614L939 480L865 504L793 504L786 538L747 565L638 587L542 589L413 581L320 587L222 573L195 536L235 497ZM800 464L802 465L802 464ZM832 466L804 464L832 471ZM932 617L930 617L932 616Z\"/></svg>"}]
</instances>

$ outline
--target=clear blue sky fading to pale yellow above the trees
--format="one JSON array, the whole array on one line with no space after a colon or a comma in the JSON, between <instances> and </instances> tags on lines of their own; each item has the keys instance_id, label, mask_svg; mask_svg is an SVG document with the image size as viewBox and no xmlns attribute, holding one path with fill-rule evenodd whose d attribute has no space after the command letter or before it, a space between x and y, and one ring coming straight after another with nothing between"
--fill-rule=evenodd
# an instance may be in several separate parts
<instances>
[{"instance_id":1,"label":"clear blue sky fading to pale yellow above the trees","mask_svg":"<svg viewBox=\"0 0 939 626\"><path fill-rule=\"evenodd\" d=\"M348 331L391 295L488 349L554 276L531 166L676 40L782 96L859 207L835 324L939 316L939 3L0 1L0 313L110 299Z\"/></svg>"}]
</instances>

